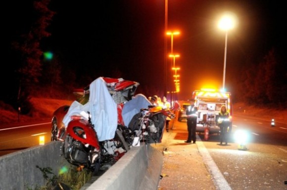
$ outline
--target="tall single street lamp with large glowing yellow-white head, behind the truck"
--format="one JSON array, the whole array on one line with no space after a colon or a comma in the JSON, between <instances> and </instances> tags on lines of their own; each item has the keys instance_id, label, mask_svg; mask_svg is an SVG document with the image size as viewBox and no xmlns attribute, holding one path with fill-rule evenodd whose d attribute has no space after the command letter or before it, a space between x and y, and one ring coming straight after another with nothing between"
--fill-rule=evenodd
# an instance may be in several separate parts
<instances>
[{"instance_id":1,"label":"tall single street lamp with large glowing yellow-white head, behind the truck","mask_svg":"<svg viewBox=\"0 0 287 190\"><path fill-rule=\"evenodd\" d=\"M226 52L227 52L227 36L228 31L232 30L236 25L236 16L233 13L226 13L220 19L218 27L225 31L225 49L224 49L224 67L223 67L223 89L225 91L225 70L226 70Z\"/></svg>"}]
</instances>

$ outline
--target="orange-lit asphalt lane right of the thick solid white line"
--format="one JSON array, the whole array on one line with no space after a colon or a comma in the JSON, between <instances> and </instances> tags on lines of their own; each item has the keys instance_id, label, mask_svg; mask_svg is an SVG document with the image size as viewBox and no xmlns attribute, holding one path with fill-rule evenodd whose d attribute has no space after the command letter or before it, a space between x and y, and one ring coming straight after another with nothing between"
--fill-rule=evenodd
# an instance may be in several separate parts
<instances>
[{"instance_id":1,"label":"orange-lit asphalt lane right of the thick solid white line","mask_svg":"<svg viewBox=\"0 0 287 190\"><path fill-rule=\"evenodd\" d=\"M204 142L212 159L233 190L287 190L287 124L271 119L236 115L234 134L245 130L247 151L239 151L234 139L218 146L216 137Z\"/></svg>"}]
</instances>

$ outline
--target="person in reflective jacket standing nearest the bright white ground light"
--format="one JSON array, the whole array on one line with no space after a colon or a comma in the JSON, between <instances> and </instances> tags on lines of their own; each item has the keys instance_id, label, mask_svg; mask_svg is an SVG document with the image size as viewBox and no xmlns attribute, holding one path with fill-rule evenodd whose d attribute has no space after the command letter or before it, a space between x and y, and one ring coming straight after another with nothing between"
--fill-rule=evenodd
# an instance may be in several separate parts
<instances>
[{"instance_id":1,"label":"person in reflective jacket standing nearest the bright white ground light","mask_svg":"<svg viewBox=\"0 0 287 190\"><path fill-rule=\"evenodd\" d=\"M220 127L220 145L222 145L223 142L225 142L225 145L228 145L227 136L230 121L229 121L229 113L227 112L225 105L223 105L220 109L217 122Z\"/></svg>"}]
</instances>

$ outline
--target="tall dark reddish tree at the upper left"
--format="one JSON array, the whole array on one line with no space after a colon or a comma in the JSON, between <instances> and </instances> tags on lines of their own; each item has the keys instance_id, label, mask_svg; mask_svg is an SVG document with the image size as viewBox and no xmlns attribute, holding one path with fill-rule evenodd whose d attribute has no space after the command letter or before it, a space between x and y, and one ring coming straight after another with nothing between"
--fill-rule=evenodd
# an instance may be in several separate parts
<instances>
[{"instance_id":1,"label":"tall dark reddish tree at the upper left","mask_svg":"<svg viewBox=\"0 0 287 190\"><path fill-rule=\"evenodd\" d=\"M48 4L50 0L35 0L33 3L35 9L35 22L31 26L28 34L23 35L22 42L14 42L12 46L21 52L21 67L19 73L19 90L18 101L20 97L23 99L22 91L25 91L25 97L28 98L30 87L39 82L42 75L42 50L40 49L40 41L47 38L51 34L46 31L55 12L49 10ZM26 99L24 97L24 99ZM20 103L21 104L21 103ZM20 106L20 105L19 105Z\"/></svg>"}]
</instances>

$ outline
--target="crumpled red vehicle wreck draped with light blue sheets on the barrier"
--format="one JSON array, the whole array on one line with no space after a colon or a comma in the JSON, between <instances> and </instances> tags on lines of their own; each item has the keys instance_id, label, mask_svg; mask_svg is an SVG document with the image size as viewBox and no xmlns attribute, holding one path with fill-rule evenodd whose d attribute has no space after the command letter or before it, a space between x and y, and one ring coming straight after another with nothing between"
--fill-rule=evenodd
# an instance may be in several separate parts
<instances>
[{"instance_id":1,"label":"crumpled red vehicle wreck draped with light blue sheets on the barrier","mask_svg":"<svg viewBox=\"0 0 287 190\"><path fill-rule=\"evenodd\" d=\"M75 92L81 95L80 98L70 106L62 106L53 113L51 141L65 141L67 126L76 115L79 121L89 120L86 123L94 127L95 138L101 149L99 154L102 156L102 162L104 162L104 155L110 154L119 159L131 146L139 146L140 142L160 143L165 120L170 114L160 107L152 106L143 94L135 95L139 85L139 82L123 78L96 78L82 91ZM84 131L85 126L82 129ZM84 146L89 146L87 139L83 142L85 142ZM116 145L115 142L117 142ZM72 146L70 144L69 146ZM81 151L84 149L82 148ZM95 152L96 149L93 150ZM76 153L75 155L67 151L64 153L69 154L67 157L70 157L71 163L83 159L71 159ZM83 155L86 156L86 154L90 155L88 152Z\"/></svg>"}]
</instances>

